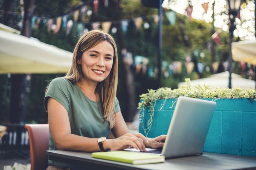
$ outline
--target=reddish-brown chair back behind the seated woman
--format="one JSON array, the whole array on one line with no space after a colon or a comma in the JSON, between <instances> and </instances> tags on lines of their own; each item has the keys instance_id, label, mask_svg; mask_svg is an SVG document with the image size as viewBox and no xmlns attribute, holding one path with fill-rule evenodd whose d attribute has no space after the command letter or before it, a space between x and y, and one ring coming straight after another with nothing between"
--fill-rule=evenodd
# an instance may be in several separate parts
<instances>
[{"instance_id":1,"label":"reddish-brown chair back behind the seated woman","mask_svg":"<svg viewBox=\"0 0 256 170\"><path fill-rule=\"evenodd\" d=\"M45 170L48 166L48 156L45 151L49 147L48 124L25 124L28 130L31 170Z\"/></svg>"}]
</instances>

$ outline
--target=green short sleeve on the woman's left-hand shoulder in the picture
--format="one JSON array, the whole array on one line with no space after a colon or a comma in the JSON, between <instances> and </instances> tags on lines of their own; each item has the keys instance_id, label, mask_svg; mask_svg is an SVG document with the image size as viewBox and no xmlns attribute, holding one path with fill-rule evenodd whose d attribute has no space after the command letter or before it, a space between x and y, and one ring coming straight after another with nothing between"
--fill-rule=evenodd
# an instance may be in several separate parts
<instances>
[{"instance_id":1,"label":"green short sleeve on the woman's left-hand shoulder in the picture","mask_svg":"<svg viewBox=\"0 0 256 170\"><path fill-rule=\"evenodd\" d=\"M44 108L47 112L47 101L51 97L61 103L66 110L69 112L69 103L70 103L70 86L69 80L58 77L51 81L44 96Z\"/></svg>"}]
</instances>

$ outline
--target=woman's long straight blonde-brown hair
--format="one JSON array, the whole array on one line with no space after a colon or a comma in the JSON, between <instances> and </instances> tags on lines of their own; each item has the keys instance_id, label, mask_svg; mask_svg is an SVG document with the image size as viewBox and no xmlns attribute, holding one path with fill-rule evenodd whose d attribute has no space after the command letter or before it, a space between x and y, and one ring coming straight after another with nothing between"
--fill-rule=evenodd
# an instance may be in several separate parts
<instances>
[{"instance_id":1,"label":"woman's long straight blonde-brown hair","mask_svg":"<svg viewBox=\"0 0 256 170\"><path fill-rule=\"evenodd\" d=\"M68 79L72 84L79 82L82 78L82 70L77 60L81 59L84 51L91 49L101 41L108 41L114 49L113 66L109 76L99 82L95 89L95 92L100 95L99 111L111 129L115 125L115 101L118 84L118 54L113 37L102 30L92 30L83 34L74 48L71 68L63 78Z\"/></svg>"}]
</instances>

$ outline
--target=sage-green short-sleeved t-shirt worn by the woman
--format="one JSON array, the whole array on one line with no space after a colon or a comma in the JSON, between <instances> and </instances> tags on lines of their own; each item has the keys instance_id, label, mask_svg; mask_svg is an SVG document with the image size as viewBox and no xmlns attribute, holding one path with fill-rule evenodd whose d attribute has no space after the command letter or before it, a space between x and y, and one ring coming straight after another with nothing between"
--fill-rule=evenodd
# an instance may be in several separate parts
<instances>
[{"instance_id":1,"label":"sage-green short-sleeved t-shirt worn by the woman","mask_svg":"<svg viewBox=\"0 0 256 170\"><path fill-rule=\"evenodd\" d=\"M99 112L98 103L90 100L78 85L73 85L64 78L51 81L44 97L44 107L47 111L47 101L51 97L61 103L67 110L71 133L89 138L108 137L110 129L108 123ZM119 101L115 102L116 113L120 111ZM49 135L49 150L57 150L51 134ZM49 161L48 161L49 162ZM49 162L53 165L52 162Z\"/></svg>"}]
</instances>

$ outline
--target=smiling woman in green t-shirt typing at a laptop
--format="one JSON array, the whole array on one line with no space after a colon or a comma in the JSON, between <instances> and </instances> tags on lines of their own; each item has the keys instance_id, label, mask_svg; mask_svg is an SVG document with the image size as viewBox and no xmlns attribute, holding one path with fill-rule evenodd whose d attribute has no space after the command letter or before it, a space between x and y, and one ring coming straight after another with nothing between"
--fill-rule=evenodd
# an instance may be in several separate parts
<instances>
[{"instance_id":1,"label":"smiling woman in green t-shirt typing at a laptop","mask_svg":"<svg viewBox=\"0 0 256 170\"><path fill-rule=\"evenodd\" d=\"M53 79L46 89L49 150L95 152L134 147L146 151L146 147L163 147L164 135L149 139L130 133L116 98L117 83L114 39L101 30L85 33L76 44L67 75ZM115 139L106 139L110 130ZM51 161L49 165L47 170L70 167Z\"/></svg>"}]
</instances>

